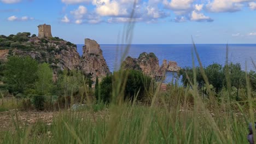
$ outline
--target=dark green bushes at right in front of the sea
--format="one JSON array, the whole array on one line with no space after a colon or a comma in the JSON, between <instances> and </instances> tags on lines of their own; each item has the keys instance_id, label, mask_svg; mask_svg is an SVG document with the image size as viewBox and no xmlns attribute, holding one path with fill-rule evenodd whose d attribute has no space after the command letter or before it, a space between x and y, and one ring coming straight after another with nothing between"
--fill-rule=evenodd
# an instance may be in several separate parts
<instances>
[{"instance_id":1,"label":"dark green bushes at right in front of the sea","mask_svg":"<svg viewBox=\"0 0 256 144\"><path fill-rule=\"evenodd\" d=\"M246 87L245 71L241 69L241 65L239 63L230 63L224 67L222 67L220 64L214 63L208 65L206 68L203 68L203 70L205 71L209 83L216 89L216 92L219 92L223 87L227 87L228 83L230 83L231 87ZM202 87L205 81L203 80L201 70L199 67L196 67L195 71L196 81L199 87ZM253 76L254 74L255 73L252 71L249 76ZM187 86L189 84L187 75L190 80L193 80L193 69L188 67L184 68L179 71L179 75L182 75L183 85ZM226 77L228 77L228 79L226 79ZM251 81L251 83L252 82L253 81Z\"/></svg>"}]
</instances>

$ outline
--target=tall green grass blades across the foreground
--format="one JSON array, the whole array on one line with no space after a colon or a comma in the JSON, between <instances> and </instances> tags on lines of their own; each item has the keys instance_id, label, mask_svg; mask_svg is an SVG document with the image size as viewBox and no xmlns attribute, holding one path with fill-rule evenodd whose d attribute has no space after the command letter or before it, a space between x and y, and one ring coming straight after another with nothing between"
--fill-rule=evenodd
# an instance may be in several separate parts
<instances>
[{"instance_id":1,"label":"tall green grass blades across the foreground","mask_svg":"<svg viewBox=\"0 0 256 144\"><path fill-rule=\"evenodd\" d=\"M126 43L131 44L133 27L134 20L131 19L126 26L127 31L123 34ZM123 57L128 50L129 45ZM113 76L112 102L107 109L95 112L91 106L84 111L60 111L51 125L38 122L34 125L22 125L22 128L18 117L13 117L15 131L6 131L0 141L2 143L247 143L248 123L255 119L255 101L252 98L249 79L247 79L248 102L245 105L235 103L237 109L234 110L231 101L214 97L195 45L192 51L200 63L210 99L202 99L194 69L194 79L187 77L191 87L183 88L177 83L171 83L168 91L161 92L159 85L156 91L151 93L153 97L150 105L139 105L135 101L125 102L123 97L127 74L120 70ZM228 74L226 79L230 79ZM85 92L88 91L86 86L84 89ZM229 92L220 94L220 98L226 97L230 97Z\"/></svg>"}]
</instances>

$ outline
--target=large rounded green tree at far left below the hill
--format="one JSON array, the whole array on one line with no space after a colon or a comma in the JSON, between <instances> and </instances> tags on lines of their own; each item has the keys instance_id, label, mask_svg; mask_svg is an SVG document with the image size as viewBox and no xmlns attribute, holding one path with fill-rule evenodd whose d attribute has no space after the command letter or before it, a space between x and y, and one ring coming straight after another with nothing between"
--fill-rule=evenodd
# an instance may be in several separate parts
<instances>
[{"instance_id":1,"label":"large rounded green tree at far left below the hill","mask_svg":"<svg viewBox=\"0 0 256 144\"><path fill-rule=\"evenodd\" d=\"M4 80L14 92L24 92L37 79L38 63L30 57L9 57L5 64Z\"/></svg>"}]
</instances>

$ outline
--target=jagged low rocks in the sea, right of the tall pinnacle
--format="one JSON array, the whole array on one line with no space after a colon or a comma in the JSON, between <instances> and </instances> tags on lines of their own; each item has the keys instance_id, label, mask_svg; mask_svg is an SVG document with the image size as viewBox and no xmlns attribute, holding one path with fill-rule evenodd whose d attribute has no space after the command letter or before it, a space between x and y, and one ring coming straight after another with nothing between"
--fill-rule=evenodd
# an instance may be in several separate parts
<instances>
[{"instance_id":1,"label":"jagged low rocks in the sea, right of the tall pinnacle","mask_svg":"<svg viewBox=\"0 0 256 144\"><path fill-rule=\"evenodd\" d=\"M178 67L177 62L167 62L166 59L162 62L159 67L158 57L154 53L143 52L138 58L132 58L128 56L123 62L124 69L142 70L144 74L151 77L163 77L166 71L179 71L181 68Z\"/></svg>"}]
</instances>

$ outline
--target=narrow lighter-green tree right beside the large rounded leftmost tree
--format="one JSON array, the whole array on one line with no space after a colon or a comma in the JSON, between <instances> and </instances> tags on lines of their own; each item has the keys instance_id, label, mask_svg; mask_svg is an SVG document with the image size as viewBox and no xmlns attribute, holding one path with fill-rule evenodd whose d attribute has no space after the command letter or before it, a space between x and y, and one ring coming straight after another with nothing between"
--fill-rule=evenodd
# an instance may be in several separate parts
<instances>
[{"instance_id":1,"label":"narrow lighter-green tree right beside the large rounded leftmost tree","mask_svg":"<svg viewBox=\"0 0 256 144\"><path fill-rule=\"evenodd\" d=\"M39 94L47 95L53 88L53 70L50 68L50 64L39 64L37 70L36 89Z\"/></svg>"}]
</instances>

